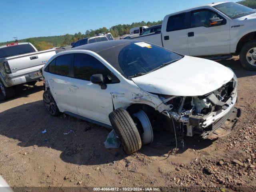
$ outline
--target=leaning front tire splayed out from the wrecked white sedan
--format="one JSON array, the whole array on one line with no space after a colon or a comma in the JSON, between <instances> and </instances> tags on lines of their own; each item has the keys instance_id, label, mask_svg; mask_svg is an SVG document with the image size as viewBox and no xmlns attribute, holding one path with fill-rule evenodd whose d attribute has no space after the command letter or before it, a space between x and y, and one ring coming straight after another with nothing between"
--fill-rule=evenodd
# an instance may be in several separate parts
<instances>
[{"instance_id":1,"label":"leaning front tire splayed out from the wrecked white sedan","mask_svg":"<svg viewBox=\"0 0 256 192\"><path fill-rule=\"evenodd\" d=\"M115 132L120 136L126 154L140 150L142 145L140 134L130 114L123 108L118 108L108 117Z\"/></svg>"}]
</instances>

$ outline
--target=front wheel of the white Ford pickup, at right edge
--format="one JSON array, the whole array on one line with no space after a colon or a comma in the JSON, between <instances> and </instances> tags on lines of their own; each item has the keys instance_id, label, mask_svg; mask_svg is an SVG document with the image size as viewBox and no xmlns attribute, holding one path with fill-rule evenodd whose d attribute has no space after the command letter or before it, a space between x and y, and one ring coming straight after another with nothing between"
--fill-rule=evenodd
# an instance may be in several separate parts
<instances>
[{"instance_id":1,"label":"front wheel of the white Ford pickup, at right edge","mask_svg":"<svg viewBox=\"0 0 256 192\"><path fill-rule=\"evenodd\" d=\"M240 61L244 68L256 70L256 40L246 43L240 51Z\"/></svg>"}]
</instances>

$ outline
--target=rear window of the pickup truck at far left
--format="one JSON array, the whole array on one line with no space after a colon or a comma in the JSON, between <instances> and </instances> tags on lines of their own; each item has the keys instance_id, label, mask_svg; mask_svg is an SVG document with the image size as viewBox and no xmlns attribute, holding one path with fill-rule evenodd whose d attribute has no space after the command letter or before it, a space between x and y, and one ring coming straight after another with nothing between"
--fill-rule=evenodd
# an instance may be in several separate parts
<instances>
[{"instance_id":1,"label":"rear window of the pickup truck at far left","mask_svg":"<svg viewBox=\"0 0 256 192\"><path fill-rule=\"evenodd\" d=\"M35 52L30 44L14 45L0 48L0 58Z\"/></svg>"}]
</instances>

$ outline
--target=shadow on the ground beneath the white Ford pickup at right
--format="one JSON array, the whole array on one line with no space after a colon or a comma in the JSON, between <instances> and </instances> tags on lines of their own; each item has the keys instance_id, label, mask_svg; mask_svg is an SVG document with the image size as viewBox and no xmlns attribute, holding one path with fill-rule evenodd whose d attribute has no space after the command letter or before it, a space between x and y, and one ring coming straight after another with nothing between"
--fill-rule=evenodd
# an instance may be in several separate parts
<instances>
[{"instance_id":1,"label":"shadow on the ground beneath the white Ford pickup at right","mask_svg":"<svg viewBox=\"0 0 256 192\"><path fill-rule=\"evenodd\" d=\"M233 57L233 58L224 59L224 60L216 60L216 62L231 68L238 78L256 75L256 71L249 71L245 69L242 66L238 57Z\"/></svg>"}]
</instances>

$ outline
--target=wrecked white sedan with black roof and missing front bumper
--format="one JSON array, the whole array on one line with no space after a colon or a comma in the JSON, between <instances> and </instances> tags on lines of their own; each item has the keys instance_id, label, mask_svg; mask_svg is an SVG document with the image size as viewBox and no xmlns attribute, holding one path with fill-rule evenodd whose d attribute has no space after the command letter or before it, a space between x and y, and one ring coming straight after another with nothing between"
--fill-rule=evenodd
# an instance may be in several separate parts
<instances>
[{"instance_id":1,"label":"wrecked white sedan with black roof and missing front bumper","mask_svg":"<svg viewBox=\"0 0 256 192\"><path fill-rule=\"evenodd\" d=\"M139 40L87 44L60 52L42 69L46 109L114 128L126 153L153 141L153 130L217 138L240 116L237 78L217 62ZM176 136L176 134L175 134Z\"/></svg>"}]
</instances>

